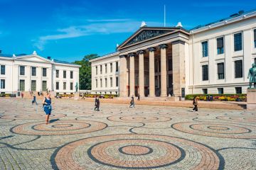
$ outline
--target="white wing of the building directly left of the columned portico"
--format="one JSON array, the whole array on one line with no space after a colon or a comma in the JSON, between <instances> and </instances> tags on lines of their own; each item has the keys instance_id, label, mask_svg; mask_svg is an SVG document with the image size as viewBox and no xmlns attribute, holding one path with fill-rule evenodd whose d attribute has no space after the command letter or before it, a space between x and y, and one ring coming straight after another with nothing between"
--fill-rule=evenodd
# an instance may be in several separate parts
<instances>
[{"instance_id":1,"label":"white wing of the building directly left of the columned portico","mask_svg":"<svg viewBox=\"0 0 256 170\"><path fill-rule=\"evenodd\" d=\"M90 60L91 94L119 94L119 52Z\"/></svg>"}]
</instances>

